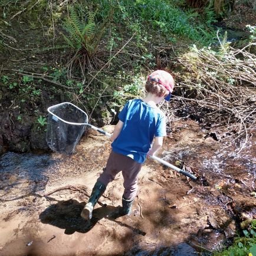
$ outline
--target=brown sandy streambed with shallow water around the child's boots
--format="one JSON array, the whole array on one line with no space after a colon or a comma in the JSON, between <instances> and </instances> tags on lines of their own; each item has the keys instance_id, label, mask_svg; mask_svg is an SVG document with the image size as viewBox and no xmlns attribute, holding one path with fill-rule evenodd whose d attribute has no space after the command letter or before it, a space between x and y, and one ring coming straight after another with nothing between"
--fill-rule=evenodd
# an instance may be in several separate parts
<instances>
[{"instance_id":1,"label":"brown sandy streambed with shallow water around the child's boots","mask_svg":"<svg viewBox=\"0 0 256 256\"><path fill-rule=\"evenodd\" d=\"M236 156L198 123L178 120L158 156L198 180L147 159L132 215L114 216L123 193L117 175L88 224L80 212L110 149L105 136L88 130L71 156L1 156L0 255L209 253L229 244L242 221L256 218L255 137Z\"/></svg>"}]
</instances>

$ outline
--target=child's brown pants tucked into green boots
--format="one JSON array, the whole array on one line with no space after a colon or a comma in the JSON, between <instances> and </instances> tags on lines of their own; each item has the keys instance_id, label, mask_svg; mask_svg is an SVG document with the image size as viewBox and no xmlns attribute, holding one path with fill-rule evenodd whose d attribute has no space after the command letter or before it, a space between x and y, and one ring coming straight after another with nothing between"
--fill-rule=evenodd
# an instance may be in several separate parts
<instances>
[{"instance_id":1,"label":"child's brown pants tucked into green boots","mask_svg":"<svg viewBox=\"0 0 256 256\"><path fill-rule=\"evenodd\" d=\"M109 184L122 170L124 193L123 197L126 200L134 199L137 193L137 180L142 164L134 161L128 156L124 156L111 151L107 160L106 168L103 169L97 181L105 186Z\"/></svg>"}]
</instances>

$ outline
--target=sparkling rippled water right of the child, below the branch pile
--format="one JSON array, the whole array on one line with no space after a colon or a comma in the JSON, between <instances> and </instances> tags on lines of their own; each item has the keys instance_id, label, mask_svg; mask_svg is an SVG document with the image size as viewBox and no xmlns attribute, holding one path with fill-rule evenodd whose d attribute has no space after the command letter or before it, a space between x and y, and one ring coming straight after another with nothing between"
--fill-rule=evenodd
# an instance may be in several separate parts
<instances>
[{"instance_id":1,"label":"sparkling rippled water right of the child, below the branch pile","mask_svg":"<svg viewBox=\"0 0 256 256\"><path fill-rule=\"evenodd\" d=\"M175 156L173 156L173 152L165 150L163 152L163 159L182 162L184 166L189 161L189 166L193 166L193 168L198 170L200 175L205 176L208 173L209 176L212 176L212 179L216 179L216 186L218 185L219 178L222 177L222 181L231 184L241 183L245 188L248 187L254 191L256 180L255 145L256 142L254 142L254 146L247 147L239 155L227 149L216 150L214 154L206 150L198 150L195 153L195 150L180 149L175 150ZM190 169L189 166L188 169Z\"/></svg>"}]
</instances>

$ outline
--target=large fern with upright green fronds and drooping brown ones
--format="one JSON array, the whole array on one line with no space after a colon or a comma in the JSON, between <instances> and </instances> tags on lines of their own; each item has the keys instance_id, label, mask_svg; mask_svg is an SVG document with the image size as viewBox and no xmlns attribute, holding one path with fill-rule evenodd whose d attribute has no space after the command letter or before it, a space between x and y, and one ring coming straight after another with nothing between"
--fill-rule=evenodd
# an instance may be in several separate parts
<instances>
[{"instance_id":1,"label":"large fern with upright green fronds and drooping brown ones","mask_svg":"<svg viewBox=\"0 0 256 256\"><path fill-rule=\"evenodd\" d=\"M70 16L64 22L67 35L63 34L65 42L74 53L69 64L70 70L74 65L80 67L84 74L86 69L92 71L103 65L104 54L99 50L99 44L109 19L99 24L96 22L96 14L97 11L85 13L81 11L81 8L70 8Z\"/></svg>"}]
</instances>

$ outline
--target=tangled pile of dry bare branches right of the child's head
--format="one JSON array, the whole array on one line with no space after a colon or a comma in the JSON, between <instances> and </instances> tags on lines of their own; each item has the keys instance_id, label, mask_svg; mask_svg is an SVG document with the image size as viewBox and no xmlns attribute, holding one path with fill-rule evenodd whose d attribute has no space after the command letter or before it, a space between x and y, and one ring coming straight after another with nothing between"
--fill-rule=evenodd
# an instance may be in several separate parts
<instances>
[{"instance_id":1,"label":"tangled pile of dry bare branches right of the child's head","mask_svg":"<svg viewBox=\"0 0 256 256\"><path fill-rule=\"evenodd\" d=\"M256 57L247 51L229 48L225 54L208 49L195 49L178 59L185 72L177 74L182 96L175 97L184 105L188 102L215 113L213 120L226 122L228 130L236 130L235 140L245 137L256 120ZM250 46L250 47L249 47ZM218 115L218 116L216 116Z\"/></svg>"}]
</instances>

